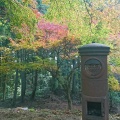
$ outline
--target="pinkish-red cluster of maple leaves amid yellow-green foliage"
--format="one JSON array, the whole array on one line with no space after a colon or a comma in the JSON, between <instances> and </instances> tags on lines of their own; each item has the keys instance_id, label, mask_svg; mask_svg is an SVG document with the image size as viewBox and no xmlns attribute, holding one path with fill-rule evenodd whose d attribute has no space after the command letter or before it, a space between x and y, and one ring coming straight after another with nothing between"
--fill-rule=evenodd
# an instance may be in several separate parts
<instances>
[{"instance_id":1,"label":"pinkish-red cluster of maple leaves amid yellow-green foliage","mask_svg":"<svg viewBox=\"0 0 120 120\"><path fill-rule=\"evenodd\" d=\"M68 34L67 26L46 22L45 20L38 22L38 28L42 30L43 39L51 42L63 39Z\"/></svg>"}]
</instances>

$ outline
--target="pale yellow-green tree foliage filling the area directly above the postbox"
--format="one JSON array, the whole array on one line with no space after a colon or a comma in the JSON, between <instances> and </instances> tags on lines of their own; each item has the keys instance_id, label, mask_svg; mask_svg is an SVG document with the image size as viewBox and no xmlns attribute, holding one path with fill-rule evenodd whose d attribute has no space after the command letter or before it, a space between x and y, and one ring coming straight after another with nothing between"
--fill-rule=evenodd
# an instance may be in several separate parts
<instances>
[{"instance_id":1,"label":"pale yellow-green tree foliage filling the area directly above the postbox","mask_svg":"<svg viewBox=\"0 0 120 120\"><path fill-rule=\"evenodd\" d=\"M69 35L79 38L82 45L100 42L111 49L119 47L118 1L56 0L50 5L45 18L67 25Z\"/></svg>"}]
</instances>

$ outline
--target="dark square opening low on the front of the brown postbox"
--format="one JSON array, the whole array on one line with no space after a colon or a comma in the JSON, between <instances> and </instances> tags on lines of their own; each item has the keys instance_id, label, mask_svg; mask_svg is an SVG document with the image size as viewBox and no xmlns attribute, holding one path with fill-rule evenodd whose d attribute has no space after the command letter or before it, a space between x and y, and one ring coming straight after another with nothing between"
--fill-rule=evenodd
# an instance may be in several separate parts
<instances>
[{"instance_id":1,"label":"dark square opening low on the front of the brown postbox","mask_svg":"<svg viewBox=\"0 0 120 120\"><path fill-rule=\"evenodd\" d=\"M101 102L87 102L87 115L102 116Z\"/></svg>"}]
</instances>

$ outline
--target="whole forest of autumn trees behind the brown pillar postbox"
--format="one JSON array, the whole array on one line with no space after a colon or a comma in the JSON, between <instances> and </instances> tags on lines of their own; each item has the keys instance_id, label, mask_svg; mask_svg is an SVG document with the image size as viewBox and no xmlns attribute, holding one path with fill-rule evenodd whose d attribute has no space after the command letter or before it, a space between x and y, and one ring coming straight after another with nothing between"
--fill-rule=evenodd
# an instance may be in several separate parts
<instances>
[{"instance_id":1,"label":"whole forest of autumn trees behind the brown pillar postbox","mask_svg":"<svg viewBox=\"0 0 120 120\"><path fill-rule=\"evenodd\" d=\"M81 102L78 48L110 46L110 109L120 105L120 0L1 0L0 100ZM119 107L118 107L119 108Z\"/></svg>"}]
</instances>

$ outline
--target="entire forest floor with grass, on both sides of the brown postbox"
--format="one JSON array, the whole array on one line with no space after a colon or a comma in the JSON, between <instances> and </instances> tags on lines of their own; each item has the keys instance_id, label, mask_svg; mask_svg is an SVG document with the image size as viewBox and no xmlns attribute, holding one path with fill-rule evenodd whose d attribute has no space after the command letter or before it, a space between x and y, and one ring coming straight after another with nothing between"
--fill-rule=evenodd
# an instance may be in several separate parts
<instances>
[{"instance_id":1,"label":"entire forest floor with grass, on both sides of the brown postbox","mask_svg":"<svg viewBox=\"0 0 120 120\"><path fill-rule=\"evenodd\" d=\"M82 120L81 106L74 103L72 111L67 110L67 103L42 99L26 100L10 108L10 102L0 102L0 120ZM109 120L120 120L120 114L110 115Z\"/></svg>"}]
</instances>

